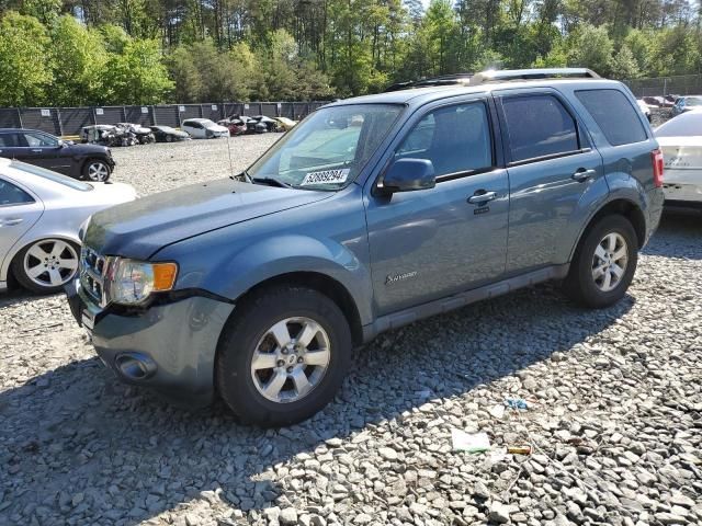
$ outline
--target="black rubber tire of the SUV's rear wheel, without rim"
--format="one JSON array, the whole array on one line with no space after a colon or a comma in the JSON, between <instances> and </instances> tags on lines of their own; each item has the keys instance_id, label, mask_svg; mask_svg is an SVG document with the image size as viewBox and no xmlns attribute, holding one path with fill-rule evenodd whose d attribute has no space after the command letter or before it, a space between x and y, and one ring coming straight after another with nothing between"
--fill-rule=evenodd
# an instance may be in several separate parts
<instances>
[{"instance_id":1,"label":"black rubber tire of the SUV's rear wheel, without rim","mask_svg":"<svg viewBox=\"0 0 702 526\"><path fill-rule=\"evenodd\" d=\"M605 236L614 233L626 242L626 267L619 283L611 290L602 290L593 278L596 249ZM589 308L610 307L622 299L634 278L638 261L638 238L634 227L623 216L605 216L592 225L585 233L570 263L564 290L570 299Z\"/></svg>"}]
</instances>

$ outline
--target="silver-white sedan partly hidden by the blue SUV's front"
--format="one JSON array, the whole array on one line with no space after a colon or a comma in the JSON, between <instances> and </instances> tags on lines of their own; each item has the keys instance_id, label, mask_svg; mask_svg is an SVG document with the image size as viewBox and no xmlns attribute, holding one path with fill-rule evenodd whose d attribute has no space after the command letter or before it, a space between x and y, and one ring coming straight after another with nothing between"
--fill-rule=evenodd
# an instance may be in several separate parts
<instances>
[{"instance_id":1,"label":"silver-white sedan partly hidden by the blue SUV's front","mask_svg":"<svg viewBox=\"0 0 702 526\"><path fill-rule=\"evenodd\" d=\"M128 184L84 183L0 159L0 290L10 276L34 293L61 290L78 271L88 218L135 198Z\"/></svg>"}]
</instances>

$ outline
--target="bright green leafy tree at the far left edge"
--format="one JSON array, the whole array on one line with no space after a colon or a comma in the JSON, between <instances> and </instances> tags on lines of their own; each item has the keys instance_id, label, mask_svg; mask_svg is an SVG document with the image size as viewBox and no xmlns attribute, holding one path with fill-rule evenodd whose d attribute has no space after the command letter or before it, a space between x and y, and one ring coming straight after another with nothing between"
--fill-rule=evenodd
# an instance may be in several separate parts
<instances>
[{"instance_id":1,"label":"bright green leafy tree at the far left edge","mask_svg":"<svg viewBox=\"0 0 702 526\"><path fill-rule=\"evenodd\" d=\"M32 106L47 100L53 79L48 47L48 32L37 19L14 11L2 16L0 106Z\"/></svg>"}]
</instances>

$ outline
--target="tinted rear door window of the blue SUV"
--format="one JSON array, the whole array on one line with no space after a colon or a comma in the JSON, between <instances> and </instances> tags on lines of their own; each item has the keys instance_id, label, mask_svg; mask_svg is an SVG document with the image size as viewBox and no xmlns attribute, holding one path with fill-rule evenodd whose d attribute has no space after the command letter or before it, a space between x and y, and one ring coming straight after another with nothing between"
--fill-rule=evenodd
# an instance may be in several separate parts
<instances>
[{"instance_id":1,"label":"tinted rear door window of the blue SUV","mask_svg":"<svg viewBox=\"0 0 702 526\"><path fill-rule=\"evenodd\" d=\"M505 98L502 107L512 162L579 149L575 121L555 96Z\"/></svg>"}]
</instances>

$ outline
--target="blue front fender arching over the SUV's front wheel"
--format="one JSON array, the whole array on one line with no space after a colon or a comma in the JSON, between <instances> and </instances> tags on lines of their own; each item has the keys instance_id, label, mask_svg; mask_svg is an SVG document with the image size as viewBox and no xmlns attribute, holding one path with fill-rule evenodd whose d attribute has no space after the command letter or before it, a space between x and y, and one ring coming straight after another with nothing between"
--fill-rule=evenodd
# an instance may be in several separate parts
<instances>
[{"instance_id":1,"label":"blue front fender arching over the SUV's front wheel","mask_svg":"<svg viewBox=\"0 0 702 526\"><path fill-rule=\"evenodd\" d=\"M176 288L200 288L236 301L256 285L273 277L295 272L316 273L341 284L353 298L361 323L372 322L370 267L346 244L328 238L284 233L239 244L233 247L234 250L222 250L227 247L224 243L218 247L220 249L216 253L211 251L206 260L191 251L185 258L179 252L181 268ZM167 261L169 252L167 248L156 259Z\"/></svg>"}]
</instances>

